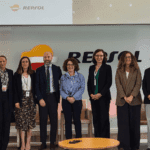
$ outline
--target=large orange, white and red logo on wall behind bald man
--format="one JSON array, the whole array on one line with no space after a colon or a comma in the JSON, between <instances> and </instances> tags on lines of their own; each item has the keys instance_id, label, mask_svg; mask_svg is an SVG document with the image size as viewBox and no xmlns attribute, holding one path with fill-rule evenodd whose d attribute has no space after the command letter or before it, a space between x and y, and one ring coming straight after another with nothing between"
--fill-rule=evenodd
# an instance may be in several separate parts
<instances>
[{"instance_id":1,"label":"large orange, white and red logo on wall behind bald man","mask_svg":"<svg viewBox=\"0 0 150 150\"><path fill-rule=\"evenodd\" d=\"M36 70L38 67L44 65L43 55L47 51L51 52L52 55L53 55L53 50L52 50L52 48L50 46L48 46L48 45L42 45L42 44L36 45L30 51L23 52L21 54L21 58L23 56L29 57L30 61L31 61L32 69ZM53 57L52 62L54 62L54 61L56 61L56 57Z\"/></svg>"}]
</instances>

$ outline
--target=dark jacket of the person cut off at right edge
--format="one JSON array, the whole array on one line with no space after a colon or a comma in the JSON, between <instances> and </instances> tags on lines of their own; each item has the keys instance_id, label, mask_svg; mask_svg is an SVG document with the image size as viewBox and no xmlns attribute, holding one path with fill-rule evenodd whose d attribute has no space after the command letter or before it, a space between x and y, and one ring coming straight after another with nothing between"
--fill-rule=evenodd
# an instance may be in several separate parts
<instances>
[{"instance_id":1,"label":"dark jacket of the person cut off at right edge","mask_svg":"<svg viewBox=\"0 0 150 150\"><path fill-rule=\"evenodd\" d=\"M150 104L150 100L147 97L150 95L150 68L146 69L144 72L142 89L144 93L144 103Z\"/></svg>"}]
</instances>

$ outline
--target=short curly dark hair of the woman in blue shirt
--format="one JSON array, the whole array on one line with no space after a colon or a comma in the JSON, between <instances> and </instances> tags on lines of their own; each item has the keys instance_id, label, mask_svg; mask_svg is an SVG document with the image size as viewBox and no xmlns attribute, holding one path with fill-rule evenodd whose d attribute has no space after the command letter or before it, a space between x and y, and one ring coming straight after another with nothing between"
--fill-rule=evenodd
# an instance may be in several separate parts
<instances>
[{"instance_id":1,"label":"short curly dark hair of the woman in blue shirt","mask_svg":"<svg viewBox=\"0 0 150 150\"><path fill-rule=\"evenodd\" d=\"M67 70L67 63L68 61L71 61L73 63L73 65L75 66L75 71L78 71L79 70L79 65L78 65L78 61L74 58L74 57L71 57L71 58L68 58L64 61L63 63L63 70L64 71L68 71Z\"/></svg>"}]
</instances>

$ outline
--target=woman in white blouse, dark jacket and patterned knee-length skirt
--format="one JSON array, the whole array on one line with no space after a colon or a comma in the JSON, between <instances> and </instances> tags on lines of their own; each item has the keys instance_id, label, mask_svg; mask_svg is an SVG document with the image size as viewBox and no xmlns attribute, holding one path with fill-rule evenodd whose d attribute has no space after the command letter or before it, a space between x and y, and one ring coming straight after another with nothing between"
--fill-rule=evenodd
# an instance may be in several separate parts
<instances>
[{"instance_id":1,"label":"woman in white blouse, dark jacket and patterned knee-length skirt","mask_svg":"<svg viewBox=\"0 0 150 150\"><path fill-rule=\"evenodd\" d=\"M31 129L35 128L35 72L28 57L22 57L14 74L16 129L21 131L21 150L30 150ZM27 143L25 145L25 131Z\"/></svg>"}]
</instances>

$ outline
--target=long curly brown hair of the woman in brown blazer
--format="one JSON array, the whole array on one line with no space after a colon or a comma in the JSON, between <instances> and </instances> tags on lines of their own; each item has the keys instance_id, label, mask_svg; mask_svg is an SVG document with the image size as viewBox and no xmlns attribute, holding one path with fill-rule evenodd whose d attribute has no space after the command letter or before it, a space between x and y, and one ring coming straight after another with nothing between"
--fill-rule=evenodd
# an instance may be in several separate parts
<instances>
[{"instance_id":1,"label":"long curly brown hair of the woman in brown blazer","mask_svg":"<svg viewBox=\"0 0 150 150\"><path fill-rule=\"evenodd\" d=\"M136 69L139 69L139 66L138 66L138 63L137 63L137 60L136 60L136 57L129 51L125 51L120 59L119 59L119 63L118 63L118 69L122 70L125 72L125 67L126 67L126 63L125 63L125 57L126 57L126 54L130 54L131 55L131 64L130 64L130 68L136 70Z\"/></svg>"}]
</instances>

